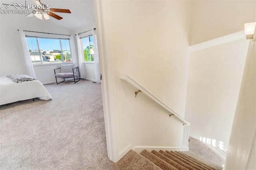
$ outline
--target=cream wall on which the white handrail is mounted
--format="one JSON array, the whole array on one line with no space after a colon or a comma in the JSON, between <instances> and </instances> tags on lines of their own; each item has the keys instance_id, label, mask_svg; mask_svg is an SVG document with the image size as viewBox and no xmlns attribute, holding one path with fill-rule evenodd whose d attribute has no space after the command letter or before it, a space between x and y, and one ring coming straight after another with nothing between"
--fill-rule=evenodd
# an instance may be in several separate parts
<instances>
[{"instance_id":1,"label":"cream wall on which the white handrail is mounted","mask_svg":"<svg viewBox=\"0 0 256 170\"><path fill-rule=\"evenodd\" d=\"M137 89L119 75L130 75L184 117L191 3L109 1L104 22L111 26L106 32L111 35L107 44L114 72L108 74L114 77L111 115L119 158L134 146L181 147L182 122L169 118L166 110L142 93L135 98Z\"/></svg>"}]
</instances>

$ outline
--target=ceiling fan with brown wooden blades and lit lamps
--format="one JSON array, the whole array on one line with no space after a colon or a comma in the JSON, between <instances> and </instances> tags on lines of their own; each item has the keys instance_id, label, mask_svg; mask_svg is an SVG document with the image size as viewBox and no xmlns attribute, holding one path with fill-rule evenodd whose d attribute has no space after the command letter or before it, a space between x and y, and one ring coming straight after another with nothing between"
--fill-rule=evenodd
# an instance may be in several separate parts
<instances>
[{"instance_id":1,"label":"ceiling fan with brown wooden blades and lit lamps","mask_svg":"<svg viewBox=\"0 0 256 170\"><path fill-rule=\"evenodd\" d=\"M37 3L38 6L46 6L45 4L42 4L40 0L36 0L36 1L40 3L40 4ZM50 9L44 10L44 9L36 8L36 10L35 9L32 10L32 12L30 14L26 15L26 16L28 16L28 17L36 16L36 18L41 19L41 20L43 18L45 20L48 20L48 19L50 19L49 16L51 16L53 18L56 18L57 20L62 19L61 16L58 16L58 15L54 14L53 12L62 12L62 13L69 13L69 14L71 13L70 10L68 10L68 9L50 8Z\"/></svg>"}]
</instances>

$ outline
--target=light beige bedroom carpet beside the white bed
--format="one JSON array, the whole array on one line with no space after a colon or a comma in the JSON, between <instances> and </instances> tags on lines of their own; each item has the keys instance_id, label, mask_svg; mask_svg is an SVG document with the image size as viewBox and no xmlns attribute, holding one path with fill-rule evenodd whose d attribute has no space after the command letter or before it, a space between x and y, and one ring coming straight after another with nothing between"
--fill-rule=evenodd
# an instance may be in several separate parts
<instances>
[{"instance_id":1,"label":"light beige bedroom carpet beside the white bed","mask_svg":"<svg viewBox=\"0 0 256 170\"><path fill-rule=\"evenodd\" d=\"M45 85L52 101L0 106L0 169L114 169L100 83Z\"/></svg>"}]
</instances>

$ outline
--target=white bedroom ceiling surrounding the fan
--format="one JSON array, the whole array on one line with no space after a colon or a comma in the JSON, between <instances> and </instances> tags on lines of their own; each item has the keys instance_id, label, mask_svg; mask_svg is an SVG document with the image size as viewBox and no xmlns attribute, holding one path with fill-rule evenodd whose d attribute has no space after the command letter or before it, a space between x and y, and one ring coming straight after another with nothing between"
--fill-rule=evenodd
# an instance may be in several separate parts
<instances>
[{"instance_id":1,"label":"white bedroom ceiling surrounding the fan","mask_svg":"<svg viewBox=\"0 0 256 170\"><path fill-rule=\"evenodd\" d=\"M10 4L14 1L15 0L0 0L0 6L2 7L2 4ZM19 4L22 2L25 6L25 0L17 0L17 2ZM41 3L45 5L50 4L50 8L69 9L71 12L71 14L54 12L54 14L61 16L63 19L57 20L50 16L50 20L44 22L52 23L74 31L84 30L83 28L86 28L86 26L95 25L93 0L41 0ZM26 4L37 4L37 2L36 0L26 0ZM10 7L10 9L15 10L14 7ZM37 19L35 16L25 17L26 14L13 16L24 21L33 22L34 24L42 23L42 20Z\"/></svg>"}]
</instances>

